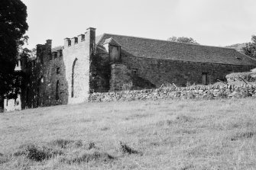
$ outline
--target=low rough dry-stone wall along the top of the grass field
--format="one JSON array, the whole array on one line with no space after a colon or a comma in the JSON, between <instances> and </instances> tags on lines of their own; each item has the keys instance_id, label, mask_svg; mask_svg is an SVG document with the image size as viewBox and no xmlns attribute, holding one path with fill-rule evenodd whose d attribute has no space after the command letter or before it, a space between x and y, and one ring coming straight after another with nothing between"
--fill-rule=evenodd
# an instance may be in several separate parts
<instances>
[{"instance_id":1,"label":"low rough dry-stone wall along the top of the grass field","mask_svg":"<svg viewBox=\"0 0 256 170\"><path fill-rule=\"evenodd\" d=\"M256 96L256 84L241 85L196 85L184 88L167 87L133 91L110 91L92 93L90 102L157 100L163 98L245 98Z\"/></svg>"}]
</instances>

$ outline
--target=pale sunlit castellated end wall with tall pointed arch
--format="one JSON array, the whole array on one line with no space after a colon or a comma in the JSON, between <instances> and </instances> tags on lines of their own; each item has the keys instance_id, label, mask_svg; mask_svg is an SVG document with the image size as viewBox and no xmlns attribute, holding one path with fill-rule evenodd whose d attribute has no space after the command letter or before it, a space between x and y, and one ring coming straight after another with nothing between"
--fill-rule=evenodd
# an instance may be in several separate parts
<instances>
[{"instance_id":1,"label":"pale sunlit castellated end wall with tall pointed arch","mask_svg":"<svg viewBox=\"0 0 256 170\"><path fill-rule=\"evenodd\" d=\"M95 50L95 34L95 28L88 28L85 34L65 39L63 61L68 83L68 104L82 103L89 98L89 68Z\"/></svg>"}]
</instances>

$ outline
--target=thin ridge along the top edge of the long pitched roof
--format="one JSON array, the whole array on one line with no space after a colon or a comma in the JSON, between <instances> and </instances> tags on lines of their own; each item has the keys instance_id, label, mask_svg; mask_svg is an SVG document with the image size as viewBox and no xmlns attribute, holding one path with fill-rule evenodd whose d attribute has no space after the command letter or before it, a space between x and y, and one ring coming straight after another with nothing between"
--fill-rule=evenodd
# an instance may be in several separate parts
<instances>
[{"instance_id":1,"label":"thin ridge along the top edge of the long pitched roof","mask_svg":"<svg viewBox=\"0 0 256 170\"><path fill-rule=\"evenodd\" d=\"M109 33L104 33L102 37L105 35L114 35L114 36L122 36L122 37L133 37L133 38L140 38L140 39L145 39L145 40L158 40L158 41L164 41L167 43L180 43L180 42L174 42L170 40L159 40L159 39L154 39L154 38L146 38L146 37L134 37L134 36L128 36L128 35L120 35L120 34L109 34ZM102 40L102 38L99 40L99 42ZM200 47L215 47L215 48L222 48L222 49L227 49L227 50L235 50L233 48L228 48L228 47L216 47L216 46L209 46L209 45L201 45L201 44L196 44L196 43L183 43L191 46L200 46ZM236 50L235 50L236 51Z\"/></svg>"}]
</instances>

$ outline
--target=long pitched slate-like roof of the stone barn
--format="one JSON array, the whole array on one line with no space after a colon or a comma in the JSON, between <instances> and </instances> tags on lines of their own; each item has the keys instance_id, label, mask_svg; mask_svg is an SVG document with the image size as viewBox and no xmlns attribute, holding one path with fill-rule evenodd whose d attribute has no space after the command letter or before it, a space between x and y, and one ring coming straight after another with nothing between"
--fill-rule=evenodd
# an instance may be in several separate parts
<instances>
[{"instance_id":1,"label":"long pitched slate-like roof of the stone barn","mask_svg":"<svg viewBox=\"0 0 256 170\"><path fill-rule=\"evenodd\" d=\"M96 43L102 46L105 40L109 38L117 41L122 46L122 50L138 57L256 66L256 59L252 59L231 48L210 47L115 34L103 34L97 37Z\"/></svg>"}]
</instances>

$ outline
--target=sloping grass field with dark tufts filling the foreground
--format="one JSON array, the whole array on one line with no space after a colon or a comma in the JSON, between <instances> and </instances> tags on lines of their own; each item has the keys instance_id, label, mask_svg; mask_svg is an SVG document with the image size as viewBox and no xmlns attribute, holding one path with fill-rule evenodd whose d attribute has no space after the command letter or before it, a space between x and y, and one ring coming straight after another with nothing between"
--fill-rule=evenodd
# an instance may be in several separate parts
<instances>
[{"instance_id":1,"label":"sloping grass field with dark tufts filling the foreground","mask_svg":"<svg viewBox=\"0 0 256 170\"><path fill-rule=\"evenodd\" d=\"M0 169L256 169L255 98L0 114Z\"/></svg>"}]
</instances>

